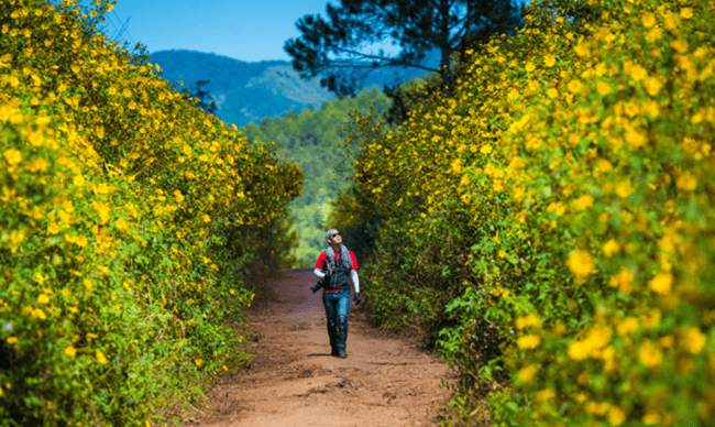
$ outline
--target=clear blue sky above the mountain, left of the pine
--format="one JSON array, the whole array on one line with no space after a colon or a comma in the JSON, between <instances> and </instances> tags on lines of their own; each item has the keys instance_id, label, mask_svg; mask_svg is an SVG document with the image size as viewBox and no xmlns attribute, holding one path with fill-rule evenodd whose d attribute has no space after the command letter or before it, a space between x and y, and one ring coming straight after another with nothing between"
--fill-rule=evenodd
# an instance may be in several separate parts
<instances>
[{"instance_id":1,"label":"clear blue sky above the mountain, left of the pine","mask_svg":"<svg viewBox=\"0 0 715 427\"><path fill-rule=\"evenodd\" d=\"M150 53L190 50L257 62L289 61L283 50L300 32L295 23L305 14L326 14L328 0L117 0L106 17L106 34L146 45ZM330 1L333 4L339 2ZM386 50L387 51L387 50Z\"/></svg>"}]
</instances>

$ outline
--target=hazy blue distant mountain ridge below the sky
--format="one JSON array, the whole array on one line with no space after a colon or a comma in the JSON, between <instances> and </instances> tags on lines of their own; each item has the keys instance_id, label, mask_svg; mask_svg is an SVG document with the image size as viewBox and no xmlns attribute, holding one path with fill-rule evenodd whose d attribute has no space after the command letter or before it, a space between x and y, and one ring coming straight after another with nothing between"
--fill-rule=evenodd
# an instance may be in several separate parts
<instances>
[{"instance_id":1,"label":"hazy blue distant mountain ridge below the sky","mask_svg":"<svg viewBox=\"0 0 715 427\"><path fill-rule=\"evenodd\" d=\"M433 65L438 61L437 55L431 55L427 63ZM211 79L206 88L217 99L217 116L239 128L290 110L320 108L336 98L320 87L319 78L301 79L287 61L249 63L212 53L158 51L150 62L162 67L169 83L183 81L193 92L197 80ZM364 86L382 88L393 78L406 80L424 74L417 68L380 68L371 73Z\"/></svg>"}]
</instances>

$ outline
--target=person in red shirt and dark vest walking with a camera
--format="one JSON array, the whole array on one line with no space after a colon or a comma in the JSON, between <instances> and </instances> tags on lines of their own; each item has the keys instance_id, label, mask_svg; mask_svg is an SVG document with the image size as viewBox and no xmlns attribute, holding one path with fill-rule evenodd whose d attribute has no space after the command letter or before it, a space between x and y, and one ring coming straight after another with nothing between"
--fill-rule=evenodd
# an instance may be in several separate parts
<instances>
[{"instance_id":1,"label":"person in red shirt and dark vest walking with a camera","mask_svg":"<svg viewBox=\"0 0 715 427\"><path fill-rule=\"evenodd\" d=\"M358 259L342 244L342 236L338 230L328 230L326 241L328 248L318 256L314 271L321 281L310 289L315 294L320 287L323 288L322 304L326 306L326 317L328 318L331 355L346 358L345 341L348 340L351 278L355 287L353 302L356 305L361 303Z\"/></svg>"}]
</instances>

